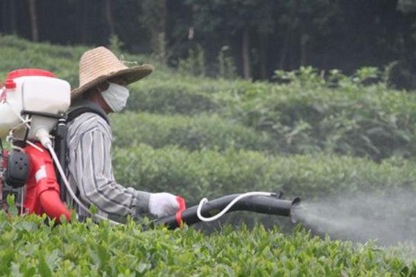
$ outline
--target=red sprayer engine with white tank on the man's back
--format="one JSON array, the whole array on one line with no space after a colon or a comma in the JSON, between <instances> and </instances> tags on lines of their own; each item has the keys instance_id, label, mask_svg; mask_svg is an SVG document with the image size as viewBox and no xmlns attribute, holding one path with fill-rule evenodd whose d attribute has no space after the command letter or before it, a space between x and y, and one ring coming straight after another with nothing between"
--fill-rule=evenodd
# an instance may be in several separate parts
<instances>
[{"instance_id":1,"label":"red sprayer engine with white tank on the man's back","mask_svg":"<svg viewBox=\"0 0 416 277\"><path fill-rule=\"evenodd\" d=\"M22 213L46 213L57 220L71 216L45 146L51 146L51 132L70 104L69 83L42 69L12 71L0 89L0 139L12 147L0 149L0 199L19 190Z\"/></svg>"}]
</instances>

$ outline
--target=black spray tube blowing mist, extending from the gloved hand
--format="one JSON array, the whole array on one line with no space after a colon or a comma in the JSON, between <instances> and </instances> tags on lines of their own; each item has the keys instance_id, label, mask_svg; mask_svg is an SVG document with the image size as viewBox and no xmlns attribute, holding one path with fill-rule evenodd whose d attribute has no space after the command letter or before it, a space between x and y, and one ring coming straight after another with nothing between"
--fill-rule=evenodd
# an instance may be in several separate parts
<instances>
[{"instance_id":1,"label":"black spray tube blowing mist, extending from the gloved hand","mask_svg":"<svg viewBox=\"0 0 416 277\"><path fill-rule=\"evenodd\" d=\"M203 217L211 217L220 213L220 211L223 211L223 209L238 196L239 195L227 195L203 204L201 215ZM227 213L232 211L252 211L268 215L291 217L292 208L299 203L299 197L295 197L292 201L288 201L279 199L278 196L248 196L236 202ZM193 206L184 210L182 212L182 221L187 225L200 222L201 220L198 218L197 210L198 206ZM294 219L292 219L292 221L294 222ZM155 221L155 224L164 224L168 229L175 229L180 226L177 215L159 218Z\"/></svg>"}]
</instances>

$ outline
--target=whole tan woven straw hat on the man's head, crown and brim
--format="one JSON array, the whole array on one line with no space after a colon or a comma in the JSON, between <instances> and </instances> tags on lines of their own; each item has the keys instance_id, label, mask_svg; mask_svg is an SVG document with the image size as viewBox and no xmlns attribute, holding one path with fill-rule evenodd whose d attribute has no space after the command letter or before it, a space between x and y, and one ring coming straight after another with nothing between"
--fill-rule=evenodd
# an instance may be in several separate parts
<instances>
[{"instance_id":1,"label":"whole tan woven straw hat on the man's head, crown and brim","mask_svg":"<svg viewBox=\"0 0 416 277\"><path fill-rule=\"evenodd\" d=\"M127 84L131 84L145 78L152 71L153 66L150 64L125 66L110 50L100 46L83 53L81 56L80 85L71 91L71 98L80 96L96 84L109 78L122 76Z\"/></svg>"}]
</instances>

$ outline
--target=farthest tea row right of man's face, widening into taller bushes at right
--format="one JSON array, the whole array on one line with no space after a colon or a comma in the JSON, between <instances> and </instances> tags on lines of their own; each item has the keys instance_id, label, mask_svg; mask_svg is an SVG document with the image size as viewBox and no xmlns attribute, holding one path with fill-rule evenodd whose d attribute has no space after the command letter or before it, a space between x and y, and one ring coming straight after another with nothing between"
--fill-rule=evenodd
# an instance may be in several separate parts
<instances>
[{"instance_id":1,"label":"farthest tea row right of man's face, widening into taller bushes at right","mask_svg":"<svg viewBox=\"0 0 416 277\"><path fill-rule=\"evenodd\" d=\"M416 96L383 84L338 89L314 84L235 82L205 88L178 80L135 84L130 109L162 114L220 114L267 132L289 153L335 152L375 160L416 154ZM203 88L203 87L202 87ZM218 89L218 91L215 91ZM211 91L214 90L214 91Z\"/></svg>"}]
</instances>

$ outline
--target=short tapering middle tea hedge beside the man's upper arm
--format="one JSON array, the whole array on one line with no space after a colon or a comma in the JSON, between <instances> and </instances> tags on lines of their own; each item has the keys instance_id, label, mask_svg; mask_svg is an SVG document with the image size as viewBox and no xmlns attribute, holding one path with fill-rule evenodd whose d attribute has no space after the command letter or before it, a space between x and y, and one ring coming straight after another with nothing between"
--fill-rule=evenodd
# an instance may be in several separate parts
<instances>
[{"instance_id":1,"label":"short tapering middle tea hedge beside the man's upper arm","mask_svg":"<svg viewBox=\"0 0 416 277\"><path fill-rule=\"evenodd\" d=\"M178 145L189 150L202 148L272 151L266 132L257 132L220 116L164 116L158 114L114 114L111 118L114 145L130 147L146 143L153 148Z\"/></svg>"}]
</instances>

